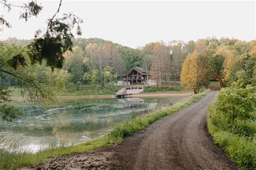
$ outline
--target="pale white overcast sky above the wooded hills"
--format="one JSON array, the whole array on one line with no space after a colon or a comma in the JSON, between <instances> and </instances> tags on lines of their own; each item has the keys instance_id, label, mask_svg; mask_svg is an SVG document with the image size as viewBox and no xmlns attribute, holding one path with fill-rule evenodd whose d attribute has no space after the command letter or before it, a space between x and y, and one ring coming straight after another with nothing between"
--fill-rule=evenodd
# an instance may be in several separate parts
<instances>
[{"instance_id":1,"label":"pale white overcast sky above the wooded hills","mask_svg":"<svg viewBox=\"0 0 256 170\"><path fill-rule=\"evenodd\" d=\"M21 5L25 1L9 1ZM12 28L2 27L0 40L8 37L32 39L46 26L58 1L38 1L44 8L37 18L19 20L19 9L10 12L0 5L0 16ZM102 38L137 48L163 40L198 40L207 37L256 39L255 1L67 1L59 17L73 12L82 18L80 38ZM76 36L77 37L77 36ZM77 37L78 38L78 37Z\"/></svg>"}]
</instances>

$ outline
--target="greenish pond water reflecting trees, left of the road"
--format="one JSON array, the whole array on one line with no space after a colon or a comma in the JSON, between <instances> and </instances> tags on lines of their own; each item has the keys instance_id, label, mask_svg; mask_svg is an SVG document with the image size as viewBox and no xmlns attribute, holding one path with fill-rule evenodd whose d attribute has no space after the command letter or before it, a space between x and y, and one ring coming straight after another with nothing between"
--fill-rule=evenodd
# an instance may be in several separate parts
<instances>
[{"instance_id":1,"label":"greenish pond water reflecting trees, left of the road","mask_svg":"<svg viewBox=\"0 0 256 170\"><path fill-rule=\"evenodd\" d=\"M24 115L11 123L0 120L2 147L20 152L38 152L45 148L72 145L103 136L114 124L147 114L156 105L168 107L185 97L104 98L60 100L51 108L17 105Z\"/></svg>"}]
</instances>

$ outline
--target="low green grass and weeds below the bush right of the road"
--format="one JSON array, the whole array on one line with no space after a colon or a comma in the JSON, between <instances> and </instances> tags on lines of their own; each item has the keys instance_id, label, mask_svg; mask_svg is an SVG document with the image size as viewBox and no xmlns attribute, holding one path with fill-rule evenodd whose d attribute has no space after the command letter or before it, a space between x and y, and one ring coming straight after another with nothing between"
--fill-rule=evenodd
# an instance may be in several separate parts
<instances>
[{"instance_id":1,"label":"low green grass and weeds below the bush right of the road","mask_svg":"<svg viewBox=\"0 0 256 170\"><path fill-rule=\"evenodd\" d=\"M207 126L214 142L240 168L256 169L256 122L236 121L230 124L217 112L214 105L208 107Z\"/></svg>"}]
</instances>

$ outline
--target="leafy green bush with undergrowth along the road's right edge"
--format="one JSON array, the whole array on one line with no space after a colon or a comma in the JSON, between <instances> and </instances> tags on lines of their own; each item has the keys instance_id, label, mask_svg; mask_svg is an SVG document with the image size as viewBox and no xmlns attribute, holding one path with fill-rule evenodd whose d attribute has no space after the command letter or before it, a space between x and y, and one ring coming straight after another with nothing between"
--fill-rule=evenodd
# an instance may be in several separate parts
<instances>
[{"instance_id":1,"label":"leafy green bush with undergrowth along the road's right edge","mask_svg":"<svg viewBox=\"0 0 256 170\"><path fill-rule=\"evenodd\" d=\"M256 168L255 87L225 88L208 107L207 125L215 143L241 168Z\"/></svg>"}]
</instances>

